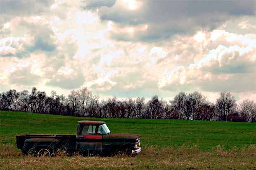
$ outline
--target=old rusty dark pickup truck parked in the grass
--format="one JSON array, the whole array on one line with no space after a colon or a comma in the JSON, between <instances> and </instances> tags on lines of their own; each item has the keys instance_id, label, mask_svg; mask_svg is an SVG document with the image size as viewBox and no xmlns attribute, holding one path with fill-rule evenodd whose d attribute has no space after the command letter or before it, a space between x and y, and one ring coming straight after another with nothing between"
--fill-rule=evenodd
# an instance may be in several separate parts
<instances>
[{"instance_id":1,"label":"old rusty dark pickup truck parked in the grass","mask_svg":"<svg viewBox=\"0 0 256 170\"><path fill-rule=\"evenodd\" d=\"M18 149L37 156L58 153L107 156L141 151L140 135L112 133L104 121L78 121L76 135L26 134L16 138Z\"/></svg>"}]
</instances>

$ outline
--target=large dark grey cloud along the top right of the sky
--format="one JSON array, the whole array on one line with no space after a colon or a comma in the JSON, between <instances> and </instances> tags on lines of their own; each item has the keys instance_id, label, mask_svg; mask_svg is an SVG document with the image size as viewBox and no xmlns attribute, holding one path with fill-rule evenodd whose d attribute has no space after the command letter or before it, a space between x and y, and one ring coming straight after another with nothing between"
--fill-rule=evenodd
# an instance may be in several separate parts
<instances>
[{"instance_id":1,"label":"large dark grey cloud along the top right of the sky","mask_svg":"<svg viewBox=\"0 0 256 170\"><path fill-rule=\"evenodd\" d=\"M118 29L110 37L122 41L153 42L166 40L175 34L192 35L195 31L213 30L230 19L254 16L254 1L140 1L140 7L129 10L123 2L112 7L100 7L98 14L105 21L112 21L117 28L144 27L133 35Z\"/></svg>"}]
</instances>

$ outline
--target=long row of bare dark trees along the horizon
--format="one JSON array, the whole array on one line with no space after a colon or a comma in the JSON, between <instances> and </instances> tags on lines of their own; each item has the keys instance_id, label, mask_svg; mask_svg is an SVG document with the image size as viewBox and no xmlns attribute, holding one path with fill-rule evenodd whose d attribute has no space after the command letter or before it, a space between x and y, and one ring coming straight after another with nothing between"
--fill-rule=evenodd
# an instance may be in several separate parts
<instances>
[{"instance_id":1,"label":"long row of bare dark trees along the horizon","mask_svg":"<svg viewBox=\"0 0 256 170\"><path fill-rule=\"evenodd\" d=\"M246 99L237 104L235 97L225 91L216 102L209 102L197 91L189 94L182 91L168 102L157 95L148 101L144 97L99 99L87 87L72 90L67 97L57 95L56 91L47 96L36 87L31 93L14 89L0 93L0 110L99 118L256 122L256 103Z\"/></svg>"}]
</instances>

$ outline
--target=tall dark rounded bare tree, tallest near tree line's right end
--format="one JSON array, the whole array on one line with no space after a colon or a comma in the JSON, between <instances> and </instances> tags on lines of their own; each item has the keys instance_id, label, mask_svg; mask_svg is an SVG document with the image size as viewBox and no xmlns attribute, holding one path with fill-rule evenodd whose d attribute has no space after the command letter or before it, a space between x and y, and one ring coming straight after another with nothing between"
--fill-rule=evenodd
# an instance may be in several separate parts
<instances>
[{"instance_id":1,"label":"tall dark rounded bare tree, tallest near tree line's right end","mask_svg":"<svg viewBox=\"0 0 256 170\"><path fill-rule=\"evenodd\" d=\"M236 100L230 92L221 92L216 101L216 110L220 121L230 121L230 115L235 112Z\"/></svg>"}]
</instances>

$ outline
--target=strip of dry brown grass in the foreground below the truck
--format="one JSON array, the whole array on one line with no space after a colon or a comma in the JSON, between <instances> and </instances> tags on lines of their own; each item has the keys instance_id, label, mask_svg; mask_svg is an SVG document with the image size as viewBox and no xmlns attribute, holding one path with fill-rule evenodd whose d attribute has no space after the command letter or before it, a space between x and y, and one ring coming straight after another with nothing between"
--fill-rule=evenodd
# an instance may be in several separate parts
<instances>
[{"instance_id":1,"label":"strip of dry brown grass in the foreground below the truck","mask_svg":"<svg viewBox=\"0 0 256 170\"><path fill-rule=\"evenodd\" d=\"M199 151L197 145L144 147L135 156L113 157L59 153L53 157L21 155L12 144L0 145L1 169L256 169L256 145L229 150L221 146L209 152Z\"/></svg>"}]
</instances>

